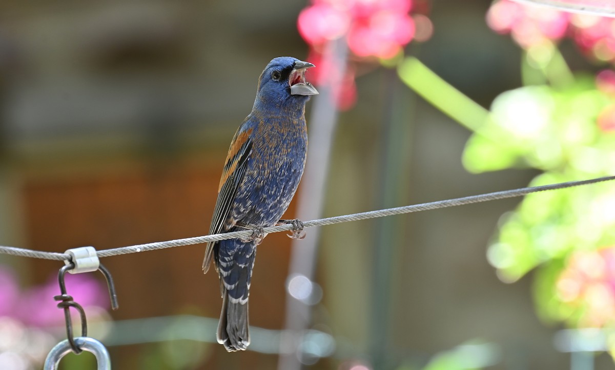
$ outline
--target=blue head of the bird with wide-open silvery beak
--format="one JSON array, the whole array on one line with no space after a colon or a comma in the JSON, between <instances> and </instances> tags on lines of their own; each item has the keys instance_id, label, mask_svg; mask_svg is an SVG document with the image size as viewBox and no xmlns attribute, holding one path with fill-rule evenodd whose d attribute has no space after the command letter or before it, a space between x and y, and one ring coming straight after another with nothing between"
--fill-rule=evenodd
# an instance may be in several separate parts
<instances>
[{"instance_id":1,"label":"blue head of the bird with wide-open silvery beak","mask_svg":"<svg viewBox=\"0 0 615 370\"><path fill-rule=\"evenodd\" d=\"M306 81L305 73L312 63L292 57L271 60L258 79L255 105L273 107L303 105L318 91Z\"/></svg>"}]
</instances>

